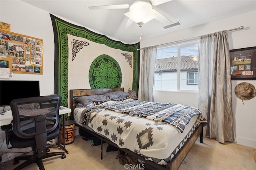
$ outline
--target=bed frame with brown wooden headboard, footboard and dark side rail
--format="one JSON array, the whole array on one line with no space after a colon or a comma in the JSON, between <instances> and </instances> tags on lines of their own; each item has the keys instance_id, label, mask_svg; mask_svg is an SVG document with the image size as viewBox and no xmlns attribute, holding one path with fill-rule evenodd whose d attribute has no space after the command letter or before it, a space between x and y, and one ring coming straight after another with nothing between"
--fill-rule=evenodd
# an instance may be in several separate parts
<instances>
[{"instance_id":1,"label":"bed frame with brown wooden headboard, footboard and dark side rail","mask_svg":"<svg viewBox=\"0 0 256 170\"><path fill-rule=\"evenodd\" d=\"M124 88L114 88L114 89L75 89L75 90L70 90L70 109L72 110L72 113L76 107L76 105L78 103L74 102L74 99L76 97L80 97L80 96L86 96L86 95L95 95L95 94L104 94L104 93L108 93L108 92L113 92L113 91L124 91ZM115 146L116 148L119 148L118 145L116 145L115 143L113 143L112 141L108 140L107 138L105 138L104 136L88 129L85 128L81 125L76 124L76 126L78 126L79 128L82 128L83 130L85 130L86 132L89 132L90 134L96 136L97 138L99 138L101 140L101 159L103 158L103 147L102 147L102 143L106 142L108 144L111 144L112 146ZM152 161L149 160L145 160L144 157L132 152L131 150L125 149L125 148L119 148L120 150L127 152L128 154L144 161L146 164L148 164L149 166L152 166L158 170L177 170L180 166L180 164L182 163L182 161L184 160L184 158L186 157L186 155L188 154L190 148L193 146L194 142L197 140L198 136L200 136L200 142L203 142L203 126L202 123L200 123L200 125L196 128L196 130L194 131L194 133L192 134L192 136L190 136L190 139L188 139L188 141L184 144L183 148L179 151L179 153L176 155L176 157L169 162L168 164L162 166L160 164L154 163Z\"/></svg>"}]
</instances>

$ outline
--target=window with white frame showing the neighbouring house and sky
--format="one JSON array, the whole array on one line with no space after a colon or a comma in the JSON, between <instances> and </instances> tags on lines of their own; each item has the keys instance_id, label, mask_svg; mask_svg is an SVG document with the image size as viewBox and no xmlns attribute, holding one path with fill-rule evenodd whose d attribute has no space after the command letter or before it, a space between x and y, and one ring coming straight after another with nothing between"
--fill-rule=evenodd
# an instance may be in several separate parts
<instances>
[{"instance_id":1,"label":"window with white frame showing the neighbouring house and sky","mask_svg":"<svg viewBox=\"0 0 256 170\"><path fill-rule=\"evenodd\" d=\"M198 90L199 40L158 47L155 65L155 90Z\"/></svg>"}]
</instances>

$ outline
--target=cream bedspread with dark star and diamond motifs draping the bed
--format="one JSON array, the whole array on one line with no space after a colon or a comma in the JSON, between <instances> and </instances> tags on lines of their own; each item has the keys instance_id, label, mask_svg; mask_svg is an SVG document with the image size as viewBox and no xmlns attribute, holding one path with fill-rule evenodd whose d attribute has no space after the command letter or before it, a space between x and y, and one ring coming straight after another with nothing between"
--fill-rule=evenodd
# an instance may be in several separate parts
<instances>
[{"instance_id":1,"label":"cream bedspread with dark star and diamond motifs draping the bed","mask_svg":"<svg viewBox=\"0 0 256 170\"><path fill-rule=\"evenodd\" d=\"M205 119L202 114L194 115L183 133L180 133L177 128L167 123L110 111L96 105L75 108L74 120L79 120L80 124L102 134L120 148L127 148L146 160L166 165L178 154L196 127Z\"/></svg>"}]
</instances>

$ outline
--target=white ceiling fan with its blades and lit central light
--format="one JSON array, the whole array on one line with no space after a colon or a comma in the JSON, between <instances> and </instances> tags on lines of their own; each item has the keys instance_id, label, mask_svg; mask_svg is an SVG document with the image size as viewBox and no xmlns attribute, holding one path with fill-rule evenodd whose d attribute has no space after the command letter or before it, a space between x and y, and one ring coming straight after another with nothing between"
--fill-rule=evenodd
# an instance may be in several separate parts
<instances>
[{"instance_id":1,"label":"white ceiling fan with its blades and lit central light","mask_svg":"<svg viewBox=\"0 0 256 170\"><path fill-rule=\"evenodd\" d=\"M149 22L152 19L156 19L165 24L171 24L172 22L162 15L157 10L153 9L152 6L157 6L170 2L172 0L134 0L131 5L119 4L119 5L104 5L104 6L89 6L90 10L108 10L108 9L130 9L124 15L129 19L126 22L125 28L128 28L132 22L137 23L140 27L142 24Z\"/></svg>"}]
</instances>

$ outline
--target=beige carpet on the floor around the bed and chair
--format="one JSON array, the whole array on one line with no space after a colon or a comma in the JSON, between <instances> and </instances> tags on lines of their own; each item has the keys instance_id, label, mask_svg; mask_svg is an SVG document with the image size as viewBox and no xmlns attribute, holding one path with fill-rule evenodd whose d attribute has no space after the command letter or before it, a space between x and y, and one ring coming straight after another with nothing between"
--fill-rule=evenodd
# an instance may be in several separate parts
<instances>
[{"instance_id":1,"label":"beige carpet on the floor around the bed and chair","mask_svg":"<svg viewBox=\"0 0 256 170\"><path fill-rule=\"evenodd\" d=\"M103 160L100 159L100 146L91 146L90 141L76 136L74 143L66 145L69 154L65 159L60 156L44 160L46 170L126 170L116 159L117 151L106 153L108 144L103 144ZM255 148L234 143L220 144L214 139L196 141L179 170L256 170ZM51 151L60 151L51 148ZM20 161L20 163L23 161ZM1 163L1 170L11 170L17 165L13 161ZM39 169L32 164L25 170Z\"/></svg>"}]
</instances>

